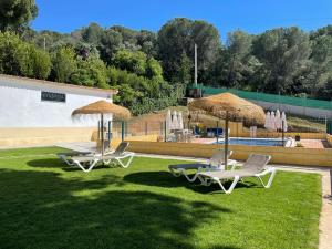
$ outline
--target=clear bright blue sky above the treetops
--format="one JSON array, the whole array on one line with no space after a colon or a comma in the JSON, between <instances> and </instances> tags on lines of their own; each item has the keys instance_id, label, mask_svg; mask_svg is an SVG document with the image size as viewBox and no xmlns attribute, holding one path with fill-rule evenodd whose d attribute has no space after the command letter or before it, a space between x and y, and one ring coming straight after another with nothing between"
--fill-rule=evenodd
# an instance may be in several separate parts
<instances>
[{"instance_id":1,"label":"clear bright blue sky above the treetops","mask_svg":"<svg viewBox=\"0 0 332 249\"><path fill-rule=\"evenodd\" d=\"M225 41L237 29L260 33L298 25L310 31L332 24L332 0L37 0L35 30L71 32L97 22L158 31L169 19L206 20Z\"/></svg>"}]
</instances>

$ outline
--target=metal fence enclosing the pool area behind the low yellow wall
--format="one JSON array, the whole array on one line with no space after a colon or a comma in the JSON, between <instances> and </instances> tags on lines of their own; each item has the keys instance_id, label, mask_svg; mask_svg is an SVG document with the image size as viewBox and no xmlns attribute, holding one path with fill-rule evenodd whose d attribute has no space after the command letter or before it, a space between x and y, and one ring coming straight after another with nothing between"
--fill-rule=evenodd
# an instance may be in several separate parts
<instances>
[{"instance_id":1,"label":"metal fence enclosing the pool area behind the low yellow wall","mask_svg":"<svg viewBox=\"0 0 332 249\"><path fill-rule=\"evenodd\" d=\"M262 125L257 126L250 122L229 122L230 144L248 146L282 146L289 137L292 138L291 147L328 148L325 141L326 123L325 118L288 118L288 132L280 129L276 132L267 131ZM300 118L300 117L299 117ZM225 143L225 120L206 120L205 115L195 115L190 122L185 118L184 131L188 138L179 138L176 134L184 134L179 131L167 131L164 121L129 121L112 122L112 138L159 141L159 142L183 142L200 144L224 144ZM289 142L290 143L290 142Z\"/></svg>"}]
</instances>

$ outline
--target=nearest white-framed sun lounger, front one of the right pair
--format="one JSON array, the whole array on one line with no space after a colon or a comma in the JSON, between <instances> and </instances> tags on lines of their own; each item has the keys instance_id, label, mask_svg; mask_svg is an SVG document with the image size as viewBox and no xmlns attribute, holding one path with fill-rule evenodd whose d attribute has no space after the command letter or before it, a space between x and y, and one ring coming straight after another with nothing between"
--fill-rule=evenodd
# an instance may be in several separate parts
<instances>
[{"instance_id":1,"label":"nearest white-framed sun lounger, front one of the right pair","mask_svg":"<svg viewBox=\"0 0 332 249\"><path fill-rule=\"evenodd\" d=\"M226 194L230 194L237 183L243 177L257 177L264 188L269 188L271 187L276 175L274 167L267 167L270 159L271 156L268 155L251 154L247 162L242 165L241 169L198 173L198 178L200 179L201 184L206 186L211 185L214 181L218 183L222 191ZM264 184L261 177L268 174L271 175L268 184ZM222 180L227 179L234 179L229 189L226 189L221 183Z\"/></svg>"}]
</instances>

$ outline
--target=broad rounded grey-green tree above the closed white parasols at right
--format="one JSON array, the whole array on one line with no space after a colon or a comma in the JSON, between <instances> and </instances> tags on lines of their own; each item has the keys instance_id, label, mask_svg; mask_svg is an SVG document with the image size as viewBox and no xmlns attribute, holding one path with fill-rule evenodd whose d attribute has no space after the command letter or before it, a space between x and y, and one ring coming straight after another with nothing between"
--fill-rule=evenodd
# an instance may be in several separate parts
<instances>
[{"instance_id":1,"label":"broad rounded grey-green tree above the closed white parasols at right","mask_svg":"<svg viewBox=\"0 0 332 249\"><path fill-rule=\"evenodd\" d=\"M310 52L309 35L295 27L270 30L255 39L253 55L263 64L259 71L260 90L289 92Z\"/></svg>"}]
</instances>

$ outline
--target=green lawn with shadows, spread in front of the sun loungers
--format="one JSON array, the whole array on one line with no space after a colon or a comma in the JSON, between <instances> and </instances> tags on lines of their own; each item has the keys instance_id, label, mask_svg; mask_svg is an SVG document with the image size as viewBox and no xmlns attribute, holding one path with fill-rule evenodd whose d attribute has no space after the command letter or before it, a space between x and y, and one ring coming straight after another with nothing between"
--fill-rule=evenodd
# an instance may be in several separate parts
<instances>
[{"instance_id":1,"label":"green lawn with shadows, spread in front of the sun loungers","mask_svg":"<svg viewBox=\"0 0 332 249\"><path fill-rule=\"evenodd\" d=\"M320 176L278 172L231 195L175 178L175 160L135 158L86 174L59 148L0 151L0 248L318 247Z\"/></svg>"}]
</instances>

